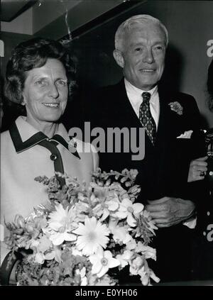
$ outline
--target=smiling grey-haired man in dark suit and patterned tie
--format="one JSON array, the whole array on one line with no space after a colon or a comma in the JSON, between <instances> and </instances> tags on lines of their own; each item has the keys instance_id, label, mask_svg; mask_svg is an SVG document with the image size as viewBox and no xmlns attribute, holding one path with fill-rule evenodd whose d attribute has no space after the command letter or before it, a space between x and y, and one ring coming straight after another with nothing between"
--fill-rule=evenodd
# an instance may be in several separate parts
<instances>
[{"instance_id":1,"label":"smiling grey-haired man in dark suit and patterned tie","mask_svg":"<svg viewBox=\"0 0 213 300\"><path fill-rule=\"evenodd\" d=\"M170 281L190 278L189 242L198 194L187 184L187 174L190 160L201 154L193 153L190 139L200 126L195 99L160 88L167 46L168 31L158 19L138 15L121 23L113 55L124 78L92 95L84 106L84 121L104 130L145 128L143 160L133 160L131 151L100 151L100 167L138 170L140 200L159 228L153 240L157 248L153 269Z\"/></svg>"}]
</instances>

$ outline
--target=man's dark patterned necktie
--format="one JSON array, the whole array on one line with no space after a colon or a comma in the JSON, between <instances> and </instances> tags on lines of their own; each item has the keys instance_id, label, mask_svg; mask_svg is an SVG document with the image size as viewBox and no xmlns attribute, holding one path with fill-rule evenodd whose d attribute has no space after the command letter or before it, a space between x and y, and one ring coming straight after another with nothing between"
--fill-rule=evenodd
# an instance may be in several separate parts
<instances>
[{"instance_id":1,"label":"man's dark patterned necktie","mask_svg":"<svg viewBox=\"0 0 213 300\"><path fill-rule=\"evenodd\" d=\"M151 115L151 110L149 105L151 94L144 91L142 97L143 97L143 102L141 103L139 109L139 120L141 121L143 128L145 128L146 133L149 139L151 140L151 143L155 145L156 125L153 116Z\"/></svg>"}]
</instances>

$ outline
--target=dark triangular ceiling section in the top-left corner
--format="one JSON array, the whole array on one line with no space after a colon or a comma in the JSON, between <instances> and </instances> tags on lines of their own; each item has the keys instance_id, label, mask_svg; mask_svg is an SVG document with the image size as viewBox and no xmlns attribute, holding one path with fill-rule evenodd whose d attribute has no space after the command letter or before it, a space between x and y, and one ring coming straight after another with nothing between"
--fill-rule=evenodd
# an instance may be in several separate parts
<instances>
[{"instance_id":1,"label":"dark triangular ceiling section in the top-left corner","mask_svg":"<svg viewBox=\"0 0 213 300\"><path fill-rule=\"evenodd\" d=\"M11 22L38 0L1 0L1 21Z\"/></svg>"}]
</instances>

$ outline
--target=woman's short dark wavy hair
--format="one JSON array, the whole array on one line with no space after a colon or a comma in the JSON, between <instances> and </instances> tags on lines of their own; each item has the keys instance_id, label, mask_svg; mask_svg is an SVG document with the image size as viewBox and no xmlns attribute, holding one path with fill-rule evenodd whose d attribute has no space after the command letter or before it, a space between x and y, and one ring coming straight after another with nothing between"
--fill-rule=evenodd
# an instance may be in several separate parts
<instances>
[{"instance_id":1,"label":"woman's short dark wavy hair","mask_svg":"<svg viewBox=\"0 0 213 300\"><path fill-rule=\"evenodd\" d=\"M75 87L75 64L67 49L55 40L47 38L33 38L14 48L6 66L6 80L4 94L7 99L16 104L23 102L23 87L26 71L36 67L43 67L48 58L60 60L65 67L68 80L69 96Z\"/></svg>"}]
</instances>

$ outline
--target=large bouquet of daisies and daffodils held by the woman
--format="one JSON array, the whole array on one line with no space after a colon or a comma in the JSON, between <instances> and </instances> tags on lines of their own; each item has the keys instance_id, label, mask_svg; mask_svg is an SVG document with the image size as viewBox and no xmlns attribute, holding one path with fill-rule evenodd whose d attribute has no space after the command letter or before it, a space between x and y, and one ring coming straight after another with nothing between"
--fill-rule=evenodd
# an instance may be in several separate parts
<instances>
[{"instance_id":1,"label":"large bouquet of daisies and daffodils held by the woman","mask_svg":"<svg viewBox=\"0 0 213 300\"><path fill-rule=\"evenodd\" d=\"M98 169L88 186L57 174L65 178L62 188L55 176L36 177L47 186L48 203L6 223L11 260L17 251L23 253L17 284L114 285L124 267L143 285L159 282L147 262L156 259L148 246L156 227L143 204L135 203L140 192L133 185L136 175L136 170Z\"/></svg>"}]
</instances>

